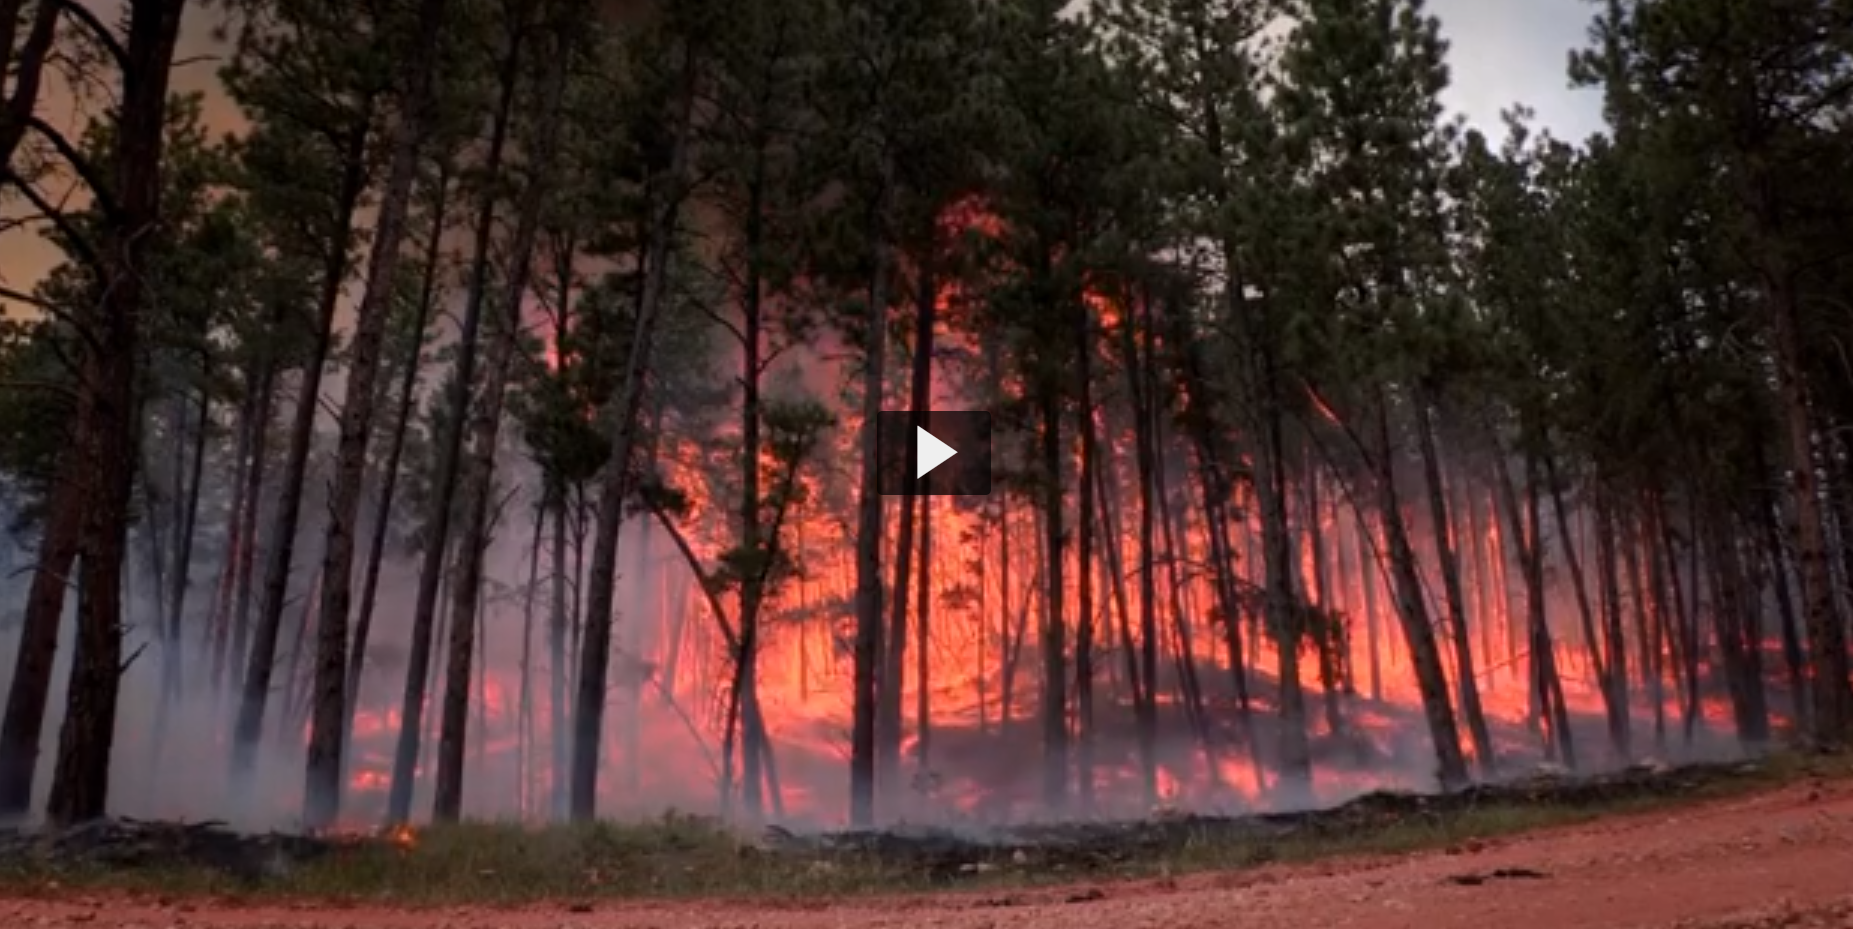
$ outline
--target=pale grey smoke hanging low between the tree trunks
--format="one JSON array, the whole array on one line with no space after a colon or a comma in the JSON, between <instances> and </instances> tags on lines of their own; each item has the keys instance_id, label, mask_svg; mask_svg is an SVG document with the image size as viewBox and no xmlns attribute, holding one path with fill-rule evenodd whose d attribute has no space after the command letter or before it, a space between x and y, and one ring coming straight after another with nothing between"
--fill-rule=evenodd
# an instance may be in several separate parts
<instances>
[{"instance_id":1,"label":"pale grey smoke hanging low between the tree trunks","mask_svg":"<svg viewBox=\"0 0 1853 929\"><path fill-rule=\"evenodd\" d=\"M510 478L523 467L510 467ZM315 510L306 510L315 512ZM265 742L248 790L235 792L228 783L232 703L215 697L206 686L211 656L202 653L189 636L183 655L182 692L163 706L161 643L150 636L154 606L148 599L146 571L132 569L132 606L135 623L126 651L137 655L124 677L122 708L117 721L117 747L111 797L120 814L141 818L226 820L252 829L287 829L296 823L302 803L302 747L306 744L306 675L309 658L295 660L300 638L298 625L311 595L309 575L319 554L319 525L306 525L298 558L309 567L298 567L291 603L285 608L284 634L278 643L276 692L269 703ZM547 603L550 595L550 551L543 532L539 551L539 579L532 608L532 640L524 649L523 636L528 616L532 547L532 501L523 493L510 497L491 541L480 640L478 682L473 692L471 732L463 814L485 820L537 820L550 810L550 723L548 723L548 668L547 660ZM11 545L11 543L9 543ZM202 540L211 549L211 540ZM17 634L17 612L24 599L24 577L19 569L30 564L30 553L11 547L6 553L9 580L6 584L6 619L0 636L0 668L11 669ZM615 818L647 818L663 810L700 814L739 812L726 808L719 795L721 719L725 712L725 647L715 632L704 597L695 588L686 560L662 530L634 519L621 543L621 579L617 593L619 621L615 627L617 660L600 764L600 812ZM828 564L815 566L826 575ZM219 567L211 562L195 564L189 597L189 627L204 623L211 599L211 580ZM762 699L776 757L778 795L767 816L795 827L841 825L841 803L847 795L849 753L849 649L847 617L832 603L806 603L806 588L825 586L826 577L799 580L795 601L775 612L760 656ZM404 655L410 636L410 612L415 590L415 560L400 554L387 562L382 575L376 627L367 656L359 714L350 747L348 795L345 821L371 825L385 812L385 786L391 775L391 751L397 732L398 703L404 686ZM1516 601L1514 592L1514 601ZM1553 588L1553 603L1564 610L1575 604L1564 592ZM69 610L67 610L69 612ZM964 638L969 630L947 621L945 636ZM1388 634L1388 629L1384 630ZM1034 630L1028 632L1034 636ZM1199 643L1203 649L1204 643ZM1199 673L1206 681L1206 703L1214 712L1212 725L1221 732L1219 745L1206 757L1201 740L1184 725L1175 697L1162 697L1158 764L1164 803L1175 808L1201 812L1242 812L1254 808L1303 808L1330 805L1351 795L1379 788L1432 790L1434 757L1421 725L1419 705L1414 701L1408 671L1392 658L1382 668L1382 701L1368 697L1364 681L1355 681L1366 694L1347 697L1349 725L1358 738L1332 738L1317 732L1314 738L1316 783L1308 790L1297 784L1269 784L1256 790L1254 764L1249 749L1236 742L1232 692L1227 671L1210 656L1214 642L1201 660ZM1034 643L1023 643L1028 655ZM1568 651L1568 649L1566 649ZM63 712L65 671L70 656L70 627L59 640L59 662L54 677L52 718L39 758L35 808L43 807L52 781L56 738ZM441 692L443 640L437 642L435 686ZM530 675L532 721L524 734L521 681L526 656ZM1356 651L1355 651L1356 656ZM628 660L634 658L634 660ZM910 762L912 788L904 792L889 814L906 821L1008 821L1040 818L1040 747L1036 734L1034 671L1025 658L1015 669L1015 706L1012 725L1019 736L999 740L1001 671L960 671L958 662L973 660L973 653L958 645L941 645L934 655L936 679L943 684L934 692L934 758L926 771L915 771ZM991 658L997 660L995 656ZM1103 653L1099 662L1114 677L1117 655ZM1267 660L1256 660L1266 668ZM295 669L295 673L291 673ZM1588 671L1568 666L1566 690L1575 727L1584 745L1601 742L1599 697L1588 682ZM1358 673L1356 677L1366 677ZM980 682L982 679L982 682ZM1175 675L1169 675L1175 682ZM914 682L906 706L914 706ZM1271 755L1277 718L1269 708L1271 684L1266 673L1251 675L1256 708L1253 714L1254 744ZM1492 668L1482 677L1488 695L1488 714L1506 753L1506 770L1525 773L1536 770L1534 736L1523 727L1523 684L1508 669ZM980 712L980 694L988 706ZM1317 718L1323 694L1308 686L1308 716ZM1771 703L1781 697L1771 692ZM285 710L295 721L284 721ZM1677 727L1677 708L1666 708ZM1636 701L1636 738L1651 736L1653 714ZM990 734L980 736L982 725ZM1093 816L1140 816L1143 805L1138 779L1138 747L1130 712L1117 703L1097 708L1103 719L1097 734ZM1729 710L1716 699L1705 706L1707 723L1686 742L1673 736L1658 757L1664 760L1712 758L1738 751L1736 740L1725 734ZM415 795L415 816L430 812L432 753L435 749L435 703L426 710L430 731L422 740L421 777ZM1716 729L1714 729L1716 725ZM904 753L912 753L912 740ZM1601 768L1601 757L1584 768ZM1264 764L1264 768L1271 768ZM1271 779L1271 775L1264 775ZM246 797L243 805L228 797Z\"/></svg>"}]
</instances>

